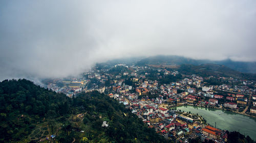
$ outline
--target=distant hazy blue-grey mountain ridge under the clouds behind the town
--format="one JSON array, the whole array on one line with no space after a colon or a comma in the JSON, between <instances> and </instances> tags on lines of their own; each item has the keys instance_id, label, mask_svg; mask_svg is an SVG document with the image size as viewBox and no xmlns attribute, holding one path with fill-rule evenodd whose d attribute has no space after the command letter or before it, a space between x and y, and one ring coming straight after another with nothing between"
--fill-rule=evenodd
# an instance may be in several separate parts
<instances>
[{"instance_id":1,"label":"distant hazy blue-grey mountain ridge under the clouds behind the town","mask_svg":"<svg viewBox=\"0 0 256 143\"><path fill-rule=\"evenodd\" d=\"M236 62L231 60L210 61L210 60L194 60L177 55L157 55L144 58L137 62L137 65L196 65L201 64L217 64L224 65L230 69L244 73L256 73L256 62Z\"/></svg>"}]
</instances>

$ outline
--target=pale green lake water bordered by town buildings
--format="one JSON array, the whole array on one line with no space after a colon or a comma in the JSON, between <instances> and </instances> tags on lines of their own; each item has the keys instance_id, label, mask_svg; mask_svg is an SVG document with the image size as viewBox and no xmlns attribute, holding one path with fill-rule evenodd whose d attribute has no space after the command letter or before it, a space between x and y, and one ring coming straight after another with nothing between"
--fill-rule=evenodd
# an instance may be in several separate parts
<instances>
[{"instance_id":1,"label":"pale green lake water bordered by town buildings","mask_svg":"<svg viewBox=\"0 0 256 143\"><path fill-rule=\"evenodd\" d=\"M233 113L231 111L223 111L213 108L195 107L195 106L179 106L174 109L198 113L208 124L222 130L239 131L244 135L249 135L256 140L256 119Z\"/></svg>"}]
</instances>

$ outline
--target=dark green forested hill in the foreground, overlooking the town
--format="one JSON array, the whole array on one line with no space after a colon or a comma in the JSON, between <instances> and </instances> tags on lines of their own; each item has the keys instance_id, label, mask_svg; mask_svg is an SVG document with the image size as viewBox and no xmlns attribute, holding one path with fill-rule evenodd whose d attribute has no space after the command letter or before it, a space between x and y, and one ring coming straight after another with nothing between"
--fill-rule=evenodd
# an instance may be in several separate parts
<instances>
[{"instance_id":1,"label":"dark green forested hill in the foreground, overlooking the town","mask_svg":"<svg viewBox=\"0 0 256 143\"><path fill-rule=\"evenodd\" d=\"M123 104L98 92L68 98L26 79L0 82L0 142L165 142ZM101 127L103 121L108 127Z\"/></svg>"}]
</instances>

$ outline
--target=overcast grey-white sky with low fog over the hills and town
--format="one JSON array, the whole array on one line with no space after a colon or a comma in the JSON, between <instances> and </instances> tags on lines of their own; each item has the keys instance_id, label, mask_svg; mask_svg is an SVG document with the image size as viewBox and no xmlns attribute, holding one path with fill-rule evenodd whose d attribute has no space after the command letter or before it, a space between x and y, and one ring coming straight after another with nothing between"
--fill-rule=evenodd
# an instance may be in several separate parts
<instances>
[{"instance_id":1,"label":"overcast grey-white sky with low fog over the hills and town","mask_svg":"<svg viewBox=\"0 0 256 143\"><path fill-rule=\"evenodd\" d=\"M130 56L256 61L256 1L1 1L0 81Z\"/></svg>"}]
</instances>

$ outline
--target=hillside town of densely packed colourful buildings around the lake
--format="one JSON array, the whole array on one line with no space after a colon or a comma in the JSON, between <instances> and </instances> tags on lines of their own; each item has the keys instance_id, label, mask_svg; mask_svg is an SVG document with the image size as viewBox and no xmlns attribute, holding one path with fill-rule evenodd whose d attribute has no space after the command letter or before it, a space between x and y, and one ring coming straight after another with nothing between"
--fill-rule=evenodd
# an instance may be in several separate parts
<instances>
[{"instance_id":1,"label":"hillside town of densely packed colourful buildings around the lake","mask_svg":"<svg viewBox=\"0 0 256 143\"><path fill-rule=\"evenodd\" d=\"M177 106L216 108L256 117L255 81L242 77L184 75L175 69L151 66L95 67L81 78L47 81L47 88L73 98L97 90L118 100L148 128L167 139L188 138L225 142L227 133L208 125L198 114L176 110Z\"/></svg>"}]
</instances>

